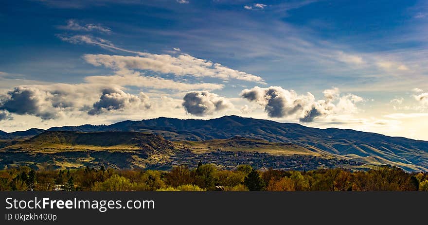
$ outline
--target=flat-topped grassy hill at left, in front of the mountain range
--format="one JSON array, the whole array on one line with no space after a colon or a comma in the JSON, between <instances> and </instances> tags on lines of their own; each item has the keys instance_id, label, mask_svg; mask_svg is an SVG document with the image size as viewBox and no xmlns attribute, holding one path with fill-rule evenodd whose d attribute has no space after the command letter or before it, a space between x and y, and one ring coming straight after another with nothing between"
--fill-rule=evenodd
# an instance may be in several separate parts
<instances>
[{"instance_id":1,"label":"flat-topped grassy hill at left, in front of the mountain range","mask_svg":"<svg viewBox=\"0 0 428 225\"><path fill-rule=\"evenodd\" d=\"M165 163L175 151L174 143L147 133L46 131L1 148L0 166L145 168Z\"/></svg>"}]
</instances>

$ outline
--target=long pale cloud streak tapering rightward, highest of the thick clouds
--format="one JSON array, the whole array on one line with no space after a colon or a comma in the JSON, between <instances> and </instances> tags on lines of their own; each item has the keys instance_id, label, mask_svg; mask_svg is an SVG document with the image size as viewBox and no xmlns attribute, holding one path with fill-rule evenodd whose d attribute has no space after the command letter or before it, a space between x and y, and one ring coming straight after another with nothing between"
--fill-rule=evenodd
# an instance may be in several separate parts
<instances>
[{"instance_id":1,"label":"long pale cloud streak tapering rightward, highest of the thick clouds","mask_svg":"<svg viewBox=\"0 0 428 225\"><path fill-rule=\"evenodd\" d=\"M188 54L178 56L146 52L140 52L140 56L86 54L84 59L94 66L105 66L112 69L141 69L176 76L214 77L222 80L237 79L264 83L259 76L230 69L219 63Z\"/></svg>"}]
</instances>

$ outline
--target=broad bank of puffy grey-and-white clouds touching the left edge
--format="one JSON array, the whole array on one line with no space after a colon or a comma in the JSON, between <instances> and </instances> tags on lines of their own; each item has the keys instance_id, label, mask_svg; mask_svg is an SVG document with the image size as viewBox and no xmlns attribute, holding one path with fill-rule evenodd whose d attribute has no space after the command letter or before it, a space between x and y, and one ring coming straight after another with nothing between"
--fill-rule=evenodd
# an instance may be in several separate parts
<instances>
[{"instance_id":1,"label":"broad bank of puffy grey-and-white clouds touching the left edge","mask_svg":"<svg viewBox=\"0 0 428 225\"><path fill-rule=\"evenodd\" d=\"M112 84L90 83L19 86L0 95L0 113L50 120L71 114L98 115L114 110L150 108L147 95L125 93L123 89Z\"/></svg>"}]
</instances>

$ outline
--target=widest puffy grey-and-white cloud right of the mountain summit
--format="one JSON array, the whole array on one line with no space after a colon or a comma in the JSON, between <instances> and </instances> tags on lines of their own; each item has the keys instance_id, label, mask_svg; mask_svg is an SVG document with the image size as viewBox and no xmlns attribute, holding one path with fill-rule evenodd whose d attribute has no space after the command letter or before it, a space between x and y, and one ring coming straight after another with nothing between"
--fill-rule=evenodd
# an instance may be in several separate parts
<instances>
[{"instance_id":1,"label":"widest puffy grey-and-white cloud right of the mountain summit","mask_svg":"<svg viewBox=\"0 0 428 225\"><path fill-rule=\"evenodd\" d=\"M316 118L339 113L356 113L356 103L363 101L353 94L340 96L339 88L326 89L323 94L324 100L315 101L309 92L299 95L282 87L253 87L244 89L241 97L263 106L269 117L294 117L301 122L312 122Z\"/></svg>"}]
</instances>

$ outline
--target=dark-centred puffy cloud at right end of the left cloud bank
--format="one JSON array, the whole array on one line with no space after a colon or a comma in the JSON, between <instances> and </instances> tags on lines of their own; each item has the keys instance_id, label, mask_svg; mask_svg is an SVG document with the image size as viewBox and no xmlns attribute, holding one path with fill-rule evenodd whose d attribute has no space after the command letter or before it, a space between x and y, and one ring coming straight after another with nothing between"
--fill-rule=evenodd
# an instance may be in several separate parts
<instances>
[{"instance_id":1,"label":"dark-centred puffy cloud at right end of the left cloud bank","mask_svg":"<svg viewBox=\"0 0 428 225\"><path fill-rule=\"evenodd\" d=\"M150 108L149 97L143 92L139 96L125 93L117 88L106 88L103 90L100 100L92 105L88 111L89 115L97 115L114 110L128 108Z\"/></svg>"}]
</instances>

